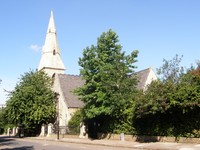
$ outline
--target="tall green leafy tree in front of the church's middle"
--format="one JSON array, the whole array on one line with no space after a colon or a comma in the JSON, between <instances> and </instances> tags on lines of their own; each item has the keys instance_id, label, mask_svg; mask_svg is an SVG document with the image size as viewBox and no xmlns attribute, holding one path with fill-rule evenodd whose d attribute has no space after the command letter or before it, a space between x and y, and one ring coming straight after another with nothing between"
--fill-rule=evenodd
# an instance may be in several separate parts
<instances>
[{"instance_id":1,"label":"tall green leafy tree in front of the church's middle","mask_svg":"<svg viewBox=\"0 0 200 150\"><path fill-rule=\"evenodd\" d=\"M130 75L136 68L138 51L125 55L121 50L117 34L109 30L102 33L96 46L84 49L79 59L85 84L77 93L85 103L85 117L99 121L101 130L107 132L127 131L126 125L131 126L128 116L133 107L137 79Z\"/></svg>"}]
</instances>

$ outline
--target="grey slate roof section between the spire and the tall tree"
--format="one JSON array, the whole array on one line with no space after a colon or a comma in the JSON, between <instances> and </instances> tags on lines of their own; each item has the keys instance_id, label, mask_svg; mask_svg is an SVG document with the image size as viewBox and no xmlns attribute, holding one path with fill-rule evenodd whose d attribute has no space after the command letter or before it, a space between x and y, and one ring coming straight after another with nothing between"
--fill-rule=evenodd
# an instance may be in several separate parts
<instances>
[{"instance_id":1,"label":"grey slate roof section between the spire and the tall tree","mask_svg":"<svg viewBox=\"0 0 200 150\"><path fill-rule=\"evenodd\" d=\"M76 96L73 91L74 89L84 85L84 80L80 76L67 74L58 74L58 78L67 106L69 108L83 107L83 102L79 100L78 96Z\"/></svg>"}]
</instances>

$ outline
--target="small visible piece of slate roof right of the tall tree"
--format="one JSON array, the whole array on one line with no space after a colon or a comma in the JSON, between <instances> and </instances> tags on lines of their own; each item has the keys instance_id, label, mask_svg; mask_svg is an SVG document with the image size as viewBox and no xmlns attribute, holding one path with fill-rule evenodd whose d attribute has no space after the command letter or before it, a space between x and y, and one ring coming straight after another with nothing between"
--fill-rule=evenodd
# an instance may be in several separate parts
<instances>
[{"instance_id":1,"label":"small visible piece of slate roof right of the tall tree","mask_svg":"<svg viewBox=\"0 0 200 150\"><path fill-rule=\"evenodd\" d=\"M141 71L138 71L135 73L139 80L138 85L137 85L138 89L142 90L145 88L145 83L147 81L150 71L151 71L151 68L147 68L147 69L144 69L144 70L141 70Z\"/></svg>"}]
</instances>

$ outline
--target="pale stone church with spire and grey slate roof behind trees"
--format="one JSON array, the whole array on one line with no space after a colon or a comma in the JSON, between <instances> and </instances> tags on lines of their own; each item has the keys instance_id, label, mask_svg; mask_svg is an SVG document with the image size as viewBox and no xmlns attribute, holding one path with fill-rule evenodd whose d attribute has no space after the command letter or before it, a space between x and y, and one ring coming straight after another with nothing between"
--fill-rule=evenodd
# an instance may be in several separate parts
<instances>
[{"instance_id":1,"label":"pale stone church with spire and grey slate roof behind trees","mask_svg":"<svg viewBox=\"0 0 200 150\"><path fill-rule=\"evenodd\" d=\"M60 126L67 126L74 112L84 105L83 102L78 99L78 96L73 93L74 89L84 84L84 81L80 76L65 74L65 66L57 41L53 12L51 12L50 15L38 70L44 70L50 77L54 78L53 90L59 94L59 124ZM137 87L141 90L145 90L151 81L157 79L152 68L139 71L136 74L139 79Z\"/></svg>"}]
</instances>

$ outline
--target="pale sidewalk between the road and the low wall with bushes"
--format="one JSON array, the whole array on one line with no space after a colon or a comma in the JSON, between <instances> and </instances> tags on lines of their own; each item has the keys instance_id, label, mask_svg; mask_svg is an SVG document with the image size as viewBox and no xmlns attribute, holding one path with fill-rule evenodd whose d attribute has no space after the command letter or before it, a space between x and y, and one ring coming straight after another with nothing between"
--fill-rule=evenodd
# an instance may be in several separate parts
<instances>
[{"instance_id":1,"label":"pale sidewalk between the road and the low wall with bushes","mask_svg":"<svg viewBox=\"0 0 200 150\"><path fill-rule=\"evenodd\" d=\"M55 138L47 138L47 137L34 137L29 139L35 139L35 140L43 139L43 140L53 140L58 142L68 142L76 144L126 147L126 148L141 149L141 150L200 150L200 144L194 144L194 143L170 143L170 142L140 143L132 141L90 140L90 139L80 139L80 138L62 138L60 140L56 140Z\"/></svg>"}]
</instances>

